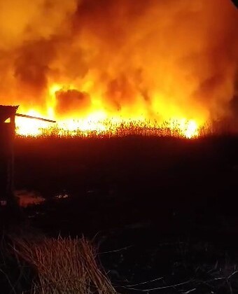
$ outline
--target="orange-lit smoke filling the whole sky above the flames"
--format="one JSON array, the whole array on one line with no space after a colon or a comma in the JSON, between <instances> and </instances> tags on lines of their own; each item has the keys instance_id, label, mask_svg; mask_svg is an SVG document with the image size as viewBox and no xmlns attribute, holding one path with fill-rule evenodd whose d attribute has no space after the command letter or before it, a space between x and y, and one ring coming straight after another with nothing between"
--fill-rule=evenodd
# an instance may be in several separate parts
<instances>
[{"instance_id":1,"label":"orange-lit smoke filling the whole sky above the flames","mask_svg":"<svg viewBox=\"0 0 238 294\"><path fill-rule=\"evenodd\" d=\"M237 27L228 0L0 0L0 102L44 111L57 84L58 116L229 116Z\"/></svg>"}]
</instances>

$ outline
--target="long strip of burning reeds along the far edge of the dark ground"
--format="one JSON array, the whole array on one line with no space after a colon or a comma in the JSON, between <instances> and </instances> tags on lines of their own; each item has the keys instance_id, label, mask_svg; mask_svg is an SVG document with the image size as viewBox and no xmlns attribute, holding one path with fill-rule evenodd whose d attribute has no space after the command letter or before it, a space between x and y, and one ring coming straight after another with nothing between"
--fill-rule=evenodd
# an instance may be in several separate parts
<instances>
[{"instance_id":1,"label":"long strip of burning reeds along the far edge of the dark ground","mask_svg":"<svg viewBox=\"0 0 238 294\"><path fill-rule=\"evenodd\" d=\"M82 129L77 120L73 120L73 129L65 127L59 123L50 127L39 127L36 132L22 133L19 127L16 128L16 134L19 138L24 137L52 137L52 138L90 138L90 139L109 139L112 137L174 137L177 139L195 139L202 137L214 137L230 134L237 134L237 127L230 125L229 122L212 121L202 126L193 125L189 121L183 123L172 120L158 123L156 120L148 121L123 121L112 123L105 120L99 125L88 123L86 129ZM235 128L235 129L234 129Z\"/></svg>"}]
</instances>

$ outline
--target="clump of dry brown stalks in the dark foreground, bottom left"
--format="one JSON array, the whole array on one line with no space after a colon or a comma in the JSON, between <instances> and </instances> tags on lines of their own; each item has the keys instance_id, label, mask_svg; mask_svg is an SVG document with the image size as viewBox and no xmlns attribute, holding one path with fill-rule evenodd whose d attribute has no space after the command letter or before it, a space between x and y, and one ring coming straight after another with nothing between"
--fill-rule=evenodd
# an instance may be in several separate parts
<instances>
[{"instance_id":1,"label":"clump of dry brown stalks in the dark foreground, bottom left","mask_svg":"<svg viewBox=\"0 0 238 294\"><path fill-rule=\"evenodd\" d=\"M31 293L116 293L99 269L97 253L87 239L12 237L12 240L18 262L27 262L36 269Z\"/></svg>"}]
</instances>

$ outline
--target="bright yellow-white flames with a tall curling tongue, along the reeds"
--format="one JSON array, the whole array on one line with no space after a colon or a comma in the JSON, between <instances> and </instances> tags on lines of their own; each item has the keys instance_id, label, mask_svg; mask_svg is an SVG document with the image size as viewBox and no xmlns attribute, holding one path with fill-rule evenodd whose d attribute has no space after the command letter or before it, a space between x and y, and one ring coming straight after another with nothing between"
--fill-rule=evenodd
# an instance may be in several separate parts
<instances>
[{"instance_id":1,"label":"bright yellow-white flames with a tall curling tongue, along the reeds","mask_svg":"<svg viewBox=\"0 0 238 294\"><path fill-rule=\"evenodd\" d=\"M57 118L55 116L55 107L57 105L57 92L74 90L73 86L61 86L61 85L52 85L48 91L48 109L46 109L46 114L48 118L57 120L57 125L54 126L54 129L57 132L58 136L76 136L79 132L87 136L91 132L96 132L96 134L107 134L110 135L116 134L116 130L120 128L121 125L126 125L130 132L130 126L139 127L141 124L146 128L154 127L154 123L151 123L149 120L146 120L143 116L127 118L127 116L116 116L113 113L106 113L103 109L97 109L90 111L90 113L83 116L83 118L77 118L77 113L73 116L75 118ZM34 116L36 118L41 118L45 116L45 113L41 111L36 111L31 109L27 111L27 115ZM176 130L177 134L181 137L186 137L191 139L199 135L199 125L195 120L188 120L186 118L170 118L167 128L170 130ZM162 129L165 127L162 127ZM25 118L16 118L16 130L17 134L20 136L31 136L31 137L40 137L43 134L50 134L52 130L52 124L33 119L31 121ZM161 132L163 135L163 132Z\"/></svg>"}]
</instances>

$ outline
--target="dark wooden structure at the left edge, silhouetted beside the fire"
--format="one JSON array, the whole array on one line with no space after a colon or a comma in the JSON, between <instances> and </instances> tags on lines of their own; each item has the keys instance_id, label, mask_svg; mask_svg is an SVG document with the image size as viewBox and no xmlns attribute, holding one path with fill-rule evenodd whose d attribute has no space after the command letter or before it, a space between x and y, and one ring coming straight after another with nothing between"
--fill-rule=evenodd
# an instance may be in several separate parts
<instances>
[{"instance_id":1,"label":"dark wooden structure at the left edge, silhouetted beside the fire","mask_svg":"<svg viewBox=\"0 0 238 294\"><path fill-rule=\"evenodd\" d=\"M13 197L13 160L15 114L18 106L0 105L0 205L5 206Z\"/></svg>"}]
</instances>

